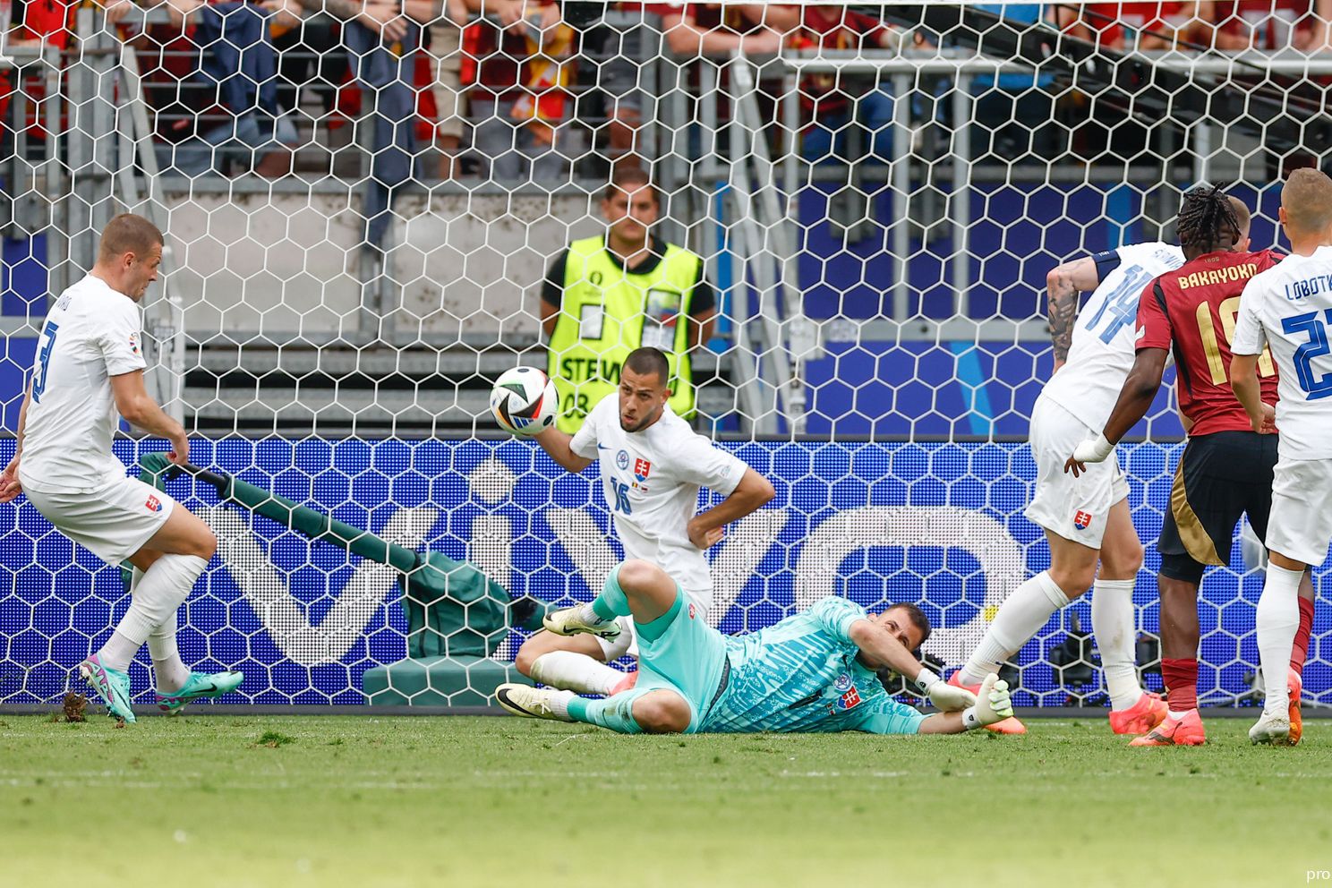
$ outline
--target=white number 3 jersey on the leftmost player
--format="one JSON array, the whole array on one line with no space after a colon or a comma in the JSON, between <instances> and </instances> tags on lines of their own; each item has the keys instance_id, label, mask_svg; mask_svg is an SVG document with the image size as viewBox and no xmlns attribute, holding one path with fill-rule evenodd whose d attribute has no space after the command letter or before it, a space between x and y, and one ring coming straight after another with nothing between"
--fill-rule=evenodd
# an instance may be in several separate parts
<instances>
[{"instance_id":1,"label":"white number 3 jersey on the leftmost player","mask_svg":"<svg viewBox=\"0 0 1332 888\"><path fill-rule=\"evenodd\" d=\"M139 305L84 277L56 300L37 339L23 433L23 486L84 493L125 477L111 451L120 423L111 377L143 370Z\"/></svg>"}]
</instances>

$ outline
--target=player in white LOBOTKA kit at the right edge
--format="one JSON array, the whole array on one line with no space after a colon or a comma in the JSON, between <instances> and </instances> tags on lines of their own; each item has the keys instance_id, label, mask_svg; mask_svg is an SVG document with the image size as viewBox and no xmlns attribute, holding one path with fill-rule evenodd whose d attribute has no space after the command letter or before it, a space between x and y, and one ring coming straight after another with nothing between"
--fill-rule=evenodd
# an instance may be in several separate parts
<instances>
[{"instance_id":1,"label":"player in white LOBOTKA kit at the right edge","mask_svg":"<svg viewBox=\"0 0 1332 888\"><path fill-rule=\"evenodd\" d=\"M1281 189L1280 221L1291 254L1255 274L1240 296L1231 385L1253 431L1271 433L1273 411L1259 397L1257 377L1259 357L1269 345L1280 437L1267 578L1255 616L1267 700L1249 739L1284 746L1297 740L1291 695L1297 703L1300 684L1287 664L1300 626L1300 583L1312 564L1323 563L1332 541L1332 180L1316 169L1293 170Z\"/></svg>"}]
</instances>

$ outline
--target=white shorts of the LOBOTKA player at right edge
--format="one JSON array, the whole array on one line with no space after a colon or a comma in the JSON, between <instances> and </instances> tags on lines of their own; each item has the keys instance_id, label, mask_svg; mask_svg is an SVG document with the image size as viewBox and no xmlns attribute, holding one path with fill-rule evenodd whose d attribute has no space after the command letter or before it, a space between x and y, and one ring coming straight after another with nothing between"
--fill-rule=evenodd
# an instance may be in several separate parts
<instances>
[{"instance_id":1,"label":"white shorts of the LOBOTKA player at right edge","mask_svg":"<svg viewBox=\"0 0 1332 888\"><path fill-rule=\"evenodd\" d=\"M1267 547L1317 567L1332 542L1332 459L1287 459L1272 470Z\"/></svg>"}]
</instances>

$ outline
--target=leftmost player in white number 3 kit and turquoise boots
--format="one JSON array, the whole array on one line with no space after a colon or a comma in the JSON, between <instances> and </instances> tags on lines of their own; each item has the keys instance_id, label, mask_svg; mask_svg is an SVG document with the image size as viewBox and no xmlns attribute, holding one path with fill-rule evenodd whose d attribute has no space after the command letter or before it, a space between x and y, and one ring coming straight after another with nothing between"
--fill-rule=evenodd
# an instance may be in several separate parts
<instances>
[{"instance_id":1,"label":"leftmost player in white number 3 kit and turquoise boots","mask_svg":"<svg viewBox=\"0 0 1332 888\"><path fill-rule=\"evenodd\" d=\"M242 679L190 672L176 648L176 608L217 549L213 531L165 493L127 478L111 450L124 417L170 442L173 462L189 458L185 430L144 389L139 300L157 280L161 257L161 232L148 220L127 213L107 225L92 272L47 314L17 450L0 475L0 502L27 494L56 530L108 564L133 563L128 612L79 664L108 715L127 722L135 720L129 662L145 642L165 712L234 691Z\"/></svg>"}]
</instances>

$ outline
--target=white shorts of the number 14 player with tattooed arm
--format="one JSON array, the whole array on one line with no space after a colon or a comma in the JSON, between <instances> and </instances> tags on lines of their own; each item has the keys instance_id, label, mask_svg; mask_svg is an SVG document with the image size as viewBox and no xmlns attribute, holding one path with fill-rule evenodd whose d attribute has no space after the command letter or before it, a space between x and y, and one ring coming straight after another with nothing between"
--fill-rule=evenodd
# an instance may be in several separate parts
<instances>
[{"instance_id":1,"label":"white shorts of the number 14 player with tattooed arm","mask_svg":"<svg viewBox=\"0 0 1332 888\"><path fill-rule=\"evenodd\" d=\"M1128 497L1118 454L1087 463L1079 478L1064 471L1074 447L1100 434L1048 398L1031 410L1031 455L1036 459L1036 493L1024 514L1052 534L1100 549L1110 507Z\"/></svg>"}]
</instances>

